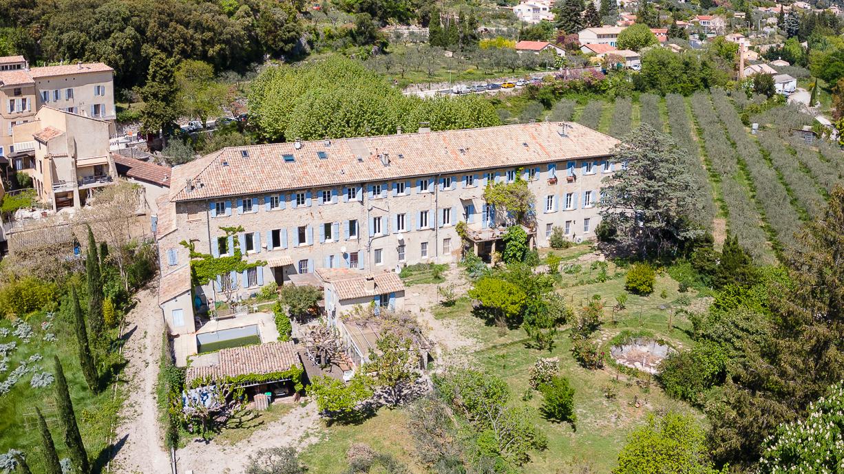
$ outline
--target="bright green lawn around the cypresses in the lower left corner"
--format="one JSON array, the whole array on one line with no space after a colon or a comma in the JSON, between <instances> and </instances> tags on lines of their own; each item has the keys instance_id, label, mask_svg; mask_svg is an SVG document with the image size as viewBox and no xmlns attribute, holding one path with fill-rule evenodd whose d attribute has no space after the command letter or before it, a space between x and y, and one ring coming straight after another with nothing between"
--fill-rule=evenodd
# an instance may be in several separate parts
<instances>
[{"instance_id":1,"label":"bright green lawn around the cypresses in the lower left corner","mask_svg":"<svg viewBox=\"0 0 844 474\"><path fill-rule=\"evenodd\" d=\"M23 342L11 334L6 337L0 334L0 344L17 342L17 349L9 354L8 370L0 373L0 379L8 380L8 375L18 368L22 361L29 361L35 354L41 355L41 360L28 363L27 366L34 367L37 372L52 374L52 357L57 355L68 379L79 431L88 450L89 459L93 466L102 467L108 455L114 431L113 423L116 423L117 412L122 406L122 391L118 390L116 396L112 387L97 395L89 391L79 366L73 334L58 317L54 321L55 329L42 331L43 320L43 314L35 314L28 320L34 331L30 342ZM2 328L11 331L11 322L0 320L0 329ZM58 341L45 342L43 337L46 332L55 332ZM62 441L62 429L55 411L55 383L44 388L33 388L30 386L31 378L32 374L24 375L11 391L0 396L0 453L9 449L23 450L29 455L27 460L32 471L41 472L44 471L44 466L41 463L41 437L37 429L35 407L41 408L48 420L47 424L51 428L59 457L68 457L68 452Z\"/></svg>"}]
</instances>

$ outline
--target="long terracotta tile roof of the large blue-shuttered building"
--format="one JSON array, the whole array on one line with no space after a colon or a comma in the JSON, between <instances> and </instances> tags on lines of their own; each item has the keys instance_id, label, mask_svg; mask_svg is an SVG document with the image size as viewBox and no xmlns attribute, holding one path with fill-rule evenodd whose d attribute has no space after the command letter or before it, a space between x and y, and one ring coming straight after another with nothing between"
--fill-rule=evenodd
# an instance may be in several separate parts
<instances>
[{"instance_id":1,"label":"long terracotta tile roof of the large blue-shuttered building","mask_svg":"<svg viewBox=\"0 0 844 474\"><path fill-rule=\"evenodd\" d=\"M337 186L372 180L458 174L566 159L607 156L613 137L578 123L567 122L566 137L559 122L501 127L405 133L380 137L341 138L295 143L271 143L223 148L173 168L170 200L191 201L242 196L306 187ZM248 156L243 156L243 153ZM320 159L317 152L325 152ZM385 166L377 154L389 154ZM283 155L295 161L285 162ZM201 185L188 192L187 179Z\"/></svg>"}]
</instances>

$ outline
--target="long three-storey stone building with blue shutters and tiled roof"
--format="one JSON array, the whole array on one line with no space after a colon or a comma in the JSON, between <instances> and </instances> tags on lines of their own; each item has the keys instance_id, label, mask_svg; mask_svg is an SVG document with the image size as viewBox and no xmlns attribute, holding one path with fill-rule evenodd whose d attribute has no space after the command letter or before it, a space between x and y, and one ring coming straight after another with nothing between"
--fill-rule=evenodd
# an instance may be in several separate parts
<instances>
[{"instance_id":1,"label":"long three-storey stone building with blue shutters and tiled roof","mask_svg":"<svg viewBox=\"0 0 844 474\"><path fill-rule=\"evenodd\" d=\"M248 261L266 262L196 288L194 303L210 306L221 284L249 294L317 268L455 261L460 222L473 250L489 258L511 222L484 202L484 188L517 178L536 199L533 243L549 245L558 226L571 240L591 239L616 143L576 123L541 122L224 148L172 170L159 202L161 274L189 265L182 240L214 256L238 245ZM226 238L222 228L236 226L244 231Z\"/></svg>"}]
</instances>

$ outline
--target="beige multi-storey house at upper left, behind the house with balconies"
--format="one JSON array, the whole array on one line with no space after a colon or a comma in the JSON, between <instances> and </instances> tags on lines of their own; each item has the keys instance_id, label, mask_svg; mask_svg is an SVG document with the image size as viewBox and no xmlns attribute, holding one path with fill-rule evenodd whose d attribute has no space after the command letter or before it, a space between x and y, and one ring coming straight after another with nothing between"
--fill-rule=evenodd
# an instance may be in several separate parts
<instances>
[{"instance_id":1,"label":"beige multi-storey house at upper left, behind the house with balconies","mask_svg":"<svg viewBox=\"0 0 844 474\"><path fill-rule=\"evenodd\" d=\"M107 121L114 134L114 70L102 62L30 67L22 56L0 57L0 157L32 151L31 143L14 141L12 129L35 120L44 105Z\"/></svg>"}]
</instances>

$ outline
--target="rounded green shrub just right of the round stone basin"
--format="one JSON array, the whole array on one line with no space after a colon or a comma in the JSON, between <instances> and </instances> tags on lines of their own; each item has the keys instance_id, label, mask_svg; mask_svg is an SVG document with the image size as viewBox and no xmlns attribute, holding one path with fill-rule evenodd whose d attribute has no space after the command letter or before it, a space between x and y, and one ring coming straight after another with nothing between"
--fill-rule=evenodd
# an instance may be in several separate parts
<instances>
[{"instance_id":1,"label":"rounded green shrub just right of the round stone basin","mask_svg":"<svg viewBox=\"0 0 844 474\"><path fill-rule=\"evenodd\" d=\"M723 381L727 361L722 347L701 343L690 351L668 354L660 364L657 380L668 396L700 404L703 393Z\"/></svg>"}]
</instances>

